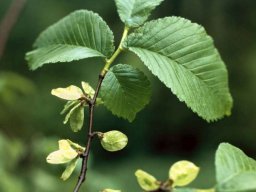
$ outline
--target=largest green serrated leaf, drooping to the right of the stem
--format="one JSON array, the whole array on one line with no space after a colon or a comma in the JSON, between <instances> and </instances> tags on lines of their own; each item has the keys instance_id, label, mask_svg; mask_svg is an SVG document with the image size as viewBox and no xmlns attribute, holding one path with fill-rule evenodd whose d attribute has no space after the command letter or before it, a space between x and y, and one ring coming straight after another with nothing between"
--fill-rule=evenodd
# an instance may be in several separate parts
<instances>
[{"instance_id":1,"label":"largest green serrated leaf, drooping to the right of the stem","mask_svg":"<svg viewBox=\"0 0 256 192\"><path fill-rule=\"evenodd\" d=\"M179 17L150 21L130 34L124 46L202 118L230 114L226 66L200 25Z\"/></svg>"}]
</instances>

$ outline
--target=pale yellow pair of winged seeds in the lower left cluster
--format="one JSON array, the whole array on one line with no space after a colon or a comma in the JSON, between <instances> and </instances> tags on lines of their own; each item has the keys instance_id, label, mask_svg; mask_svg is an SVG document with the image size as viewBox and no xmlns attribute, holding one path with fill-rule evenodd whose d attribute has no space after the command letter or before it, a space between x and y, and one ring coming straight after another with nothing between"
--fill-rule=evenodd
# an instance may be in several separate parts
<instances>
[{"instance_id":1,"label":"pale yellow pair of winged seeds in the lower left cluster","mask_svg":"<svg viewBox=\"0 0 256 192\"><path fill-rule=\"evenodd\" d=\"M63 164L70 162L77 155L77 152L70 146L67 140L60 140L59 150L50 153L46 161L50 164Z\"/></svg>"}]
</instances>

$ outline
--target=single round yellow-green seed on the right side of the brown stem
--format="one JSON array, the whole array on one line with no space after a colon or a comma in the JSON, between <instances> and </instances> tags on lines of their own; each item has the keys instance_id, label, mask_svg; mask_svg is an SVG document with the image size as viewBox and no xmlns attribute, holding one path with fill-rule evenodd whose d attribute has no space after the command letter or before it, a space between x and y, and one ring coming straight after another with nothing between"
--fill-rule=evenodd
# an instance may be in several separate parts
<instances>
[{"instance_id":1,"label":"single round yellow-green seed on the right side of the brown stem","mask_svg":"<svg viewBox=\"0 0 256 192\"><path fill-rule=\"evenodd\" d=\"M101 145L107 151L122 150L128 143L128 138L120 131L108 131L102 135Z\"/></svg>"}]
</instances>

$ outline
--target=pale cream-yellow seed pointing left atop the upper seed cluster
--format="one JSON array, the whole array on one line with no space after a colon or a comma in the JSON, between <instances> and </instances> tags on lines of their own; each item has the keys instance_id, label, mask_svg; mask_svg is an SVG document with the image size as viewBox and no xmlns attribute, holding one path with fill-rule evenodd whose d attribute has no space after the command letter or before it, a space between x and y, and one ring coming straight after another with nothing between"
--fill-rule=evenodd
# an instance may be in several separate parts
<instances>
[{"instance_id":1,"label":"pale cream-yellow seed pointing left atop the upper seed cluster","mask_svg":"<svg viewBox=\"0 0 256 192\"><path fill-rule=\"evenodd\" d=\"M66 88L57 88L51 91L51 94L65 100L77 100L83 96L83 91L74 85Z\"/></svg>"}]
</instances>

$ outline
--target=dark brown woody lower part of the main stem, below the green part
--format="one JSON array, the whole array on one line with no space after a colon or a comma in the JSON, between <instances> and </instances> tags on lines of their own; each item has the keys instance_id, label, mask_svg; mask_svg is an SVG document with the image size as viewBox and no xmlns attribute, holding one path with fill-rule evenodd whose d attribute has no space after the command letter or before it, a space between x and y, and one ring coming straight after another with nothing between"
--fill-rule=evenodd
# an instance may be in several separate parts
<instances>
[{"instance_id":1,"label":"dark brown woody lower part of the main stem, below the green part","mask_svg":"<svg viewBox=\"0 0 256 192\"><path fill-rule=\"evenodd\" d=\"M86 172L87 172L87 167L88 167L87 164L88 164L88 159L89 159L89 154L90 154L90 149L91 149L91 143L92 143L92 139L95 135L95 133L92 131L94 107L96 105L96 99L98 97L98 94L99 94L101 84L102 84L102 81L103 81L104 77L105 77L105 74L103 74L103 75L101 74L99 76L97 89L95 91L93 99L89 103L89 129L88 129L88 133L87 133L87 145L86 145L86 150L81 155L81 158L83 159L82 168L81 168L80 175L78 177L78 182L75 186L74 192L79 191L80 187L82 186L83 182L86 179Z\"/></svg>"}]
</instances>

